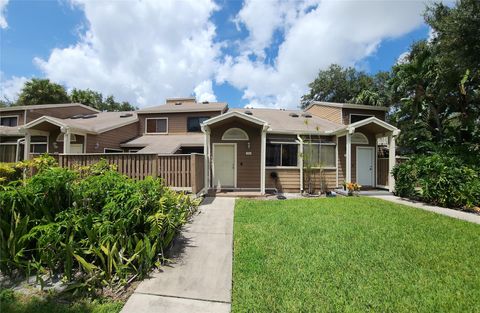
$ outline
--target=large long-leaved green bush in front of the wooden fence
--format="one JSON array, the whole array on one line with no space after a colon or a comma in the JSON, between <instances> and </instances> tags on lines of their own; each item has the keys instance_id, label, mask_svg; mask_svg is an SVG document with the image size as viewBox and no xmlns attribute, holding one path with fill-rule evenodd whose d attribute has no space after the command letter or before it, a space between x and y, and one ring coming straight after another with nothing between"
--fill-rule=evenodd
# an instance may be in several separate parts
<instances>
[{"instance_id":1,"label":"large long-leaved green bush in front of the wooden fence","mask_svg":"<svg viewBox=\"0 0 480 313\"><path fill-rule=\"evenodd\" d=\"M50 167L0 186L0 270L62 274L95 290L145 276L196 208L160 179L129 179L105 162Z\"/></svg>"}]
</instances>

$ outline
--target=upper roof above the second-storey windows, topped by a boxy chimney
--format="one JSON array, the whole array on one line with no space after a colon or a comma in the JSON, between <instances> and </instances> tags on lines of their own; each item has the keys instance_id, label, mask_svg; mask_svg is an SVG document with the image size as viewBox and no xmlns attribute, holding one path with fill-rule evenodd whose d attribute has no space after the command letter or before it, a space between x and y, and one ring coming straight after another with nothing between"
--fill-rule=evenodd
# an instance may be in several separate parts
<instances>
[{"instance_id":1,"label":"upper roof above the second-storey windows, topped by a boxy chimney","mask_svg":"<svg viewBox=\"0 0 480 313\"><path fill-rule=\"evenodd\" d=\"M182 100L182 99L180 99ZM179 103L179 104L177 104ZM225 102L168 102L159 106L140 109L137 112L142 113L184 113L184 112L224 112L227 109L227 103Z\"/></svg>"}]
</instances>

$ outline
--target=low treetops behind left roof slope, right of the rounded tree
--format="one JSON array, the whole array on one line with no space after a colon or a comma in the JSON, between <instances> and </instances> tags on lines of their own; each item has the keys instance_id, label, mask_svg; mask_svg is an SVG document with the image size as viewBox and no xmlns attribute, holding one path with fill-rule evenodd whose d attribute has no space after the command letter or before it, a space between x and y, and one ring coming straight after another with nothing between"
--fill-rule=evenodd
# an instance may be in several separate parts
<instances>
[{"instance_id":1,"label":"low treetops behind left roof slope, right of the rounded tree","mask_svg":"<svg viewBox=\"0 0 480 313\"><path fill-rule=\"evenodd\" d=\"M130 103L117 102L113 96L108 96L103 99L103 95L100 92L90 89L73 89L70 93L72 102L88 105L100 111L134 111L136 107Z\"/></svg>"}]
</instances>

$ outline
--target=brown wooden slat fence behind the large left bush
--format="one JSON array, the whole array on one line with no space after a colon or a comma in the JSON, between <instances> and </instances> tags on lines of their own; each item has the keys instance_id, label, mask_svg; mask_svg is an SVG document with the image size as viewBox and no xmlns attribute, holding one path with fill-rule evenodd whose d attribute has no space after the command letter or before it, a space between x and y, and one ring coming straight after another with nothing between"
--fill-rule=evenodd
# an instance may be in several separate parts
<instances>
[{"instance_id":1,"label":"brown wooden slat fence behind the large left bush","mask_svg":"<svg viewBox=\"0 0 480 313\"><path fill-rule=\"evenodd\" d=\"M106 160L133 179L161 177L174 189L198 193L204 185L203 154L86 153L54 155L62 167L86 166Z\"/></svg>"}]
</instances>

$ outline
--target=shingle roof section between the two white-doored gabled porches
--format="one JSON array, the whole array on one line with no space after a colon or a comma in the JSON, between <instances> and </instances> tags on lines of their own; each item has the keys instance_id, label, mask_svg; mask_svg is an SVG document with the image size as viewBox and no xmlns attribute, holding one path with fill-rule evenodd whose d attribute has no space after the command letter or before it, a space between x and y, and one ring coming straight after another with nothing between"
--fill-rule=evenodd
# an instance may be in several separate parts
<instances>
[{"instance_id":1,"label":"shingle roof section between the two white-doored gabled porches","mask_svg":"<svg viewBox=\"0 0 480 313\"><path fill-rule=\"evenodd\" d=\"M301 110L231 109L231 111L242 113L250 111L251 116L255 116L270 125L268 129L270 133L328 133L343 127L342 124L328 121ZM310 117L306 117L306 114Z\"/></svg>"}]
</instances>

